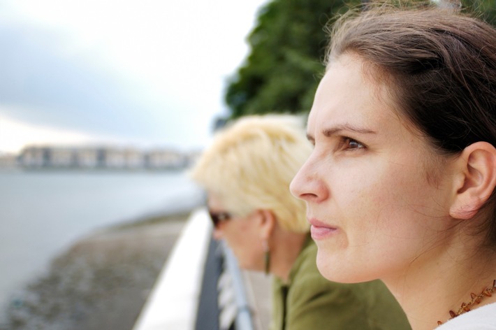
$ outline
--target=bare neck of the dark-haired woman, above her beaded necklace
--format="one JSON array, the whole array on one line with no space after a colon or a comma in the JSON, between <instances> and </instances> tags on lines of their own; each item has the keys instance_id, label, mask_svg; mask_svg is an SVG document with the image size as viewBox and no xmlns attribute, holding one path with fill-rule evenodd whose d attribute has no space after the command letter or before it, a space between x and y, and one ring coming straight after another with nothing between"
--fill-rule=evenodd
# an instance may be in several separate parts
<instances>
[{"instance_id":1,"label":"bare neck of the dark-haired woman, above her beaded necklace","mask_svg":"<svg viewBox=\"0 0 496 330\"><path fill-rule=\"evenodd\" d=\"M407 314L412 329L434 329L438 321L444 323L451 318L450 310L456 313L462 303L470 301L472 292L480 294L493 285L496 254L472 254L462 258L446 250L436 259L421 256L404 274L384 279ZM496 294L481 299L471 309L493 302Z\"/></svg>"}]
</instances>

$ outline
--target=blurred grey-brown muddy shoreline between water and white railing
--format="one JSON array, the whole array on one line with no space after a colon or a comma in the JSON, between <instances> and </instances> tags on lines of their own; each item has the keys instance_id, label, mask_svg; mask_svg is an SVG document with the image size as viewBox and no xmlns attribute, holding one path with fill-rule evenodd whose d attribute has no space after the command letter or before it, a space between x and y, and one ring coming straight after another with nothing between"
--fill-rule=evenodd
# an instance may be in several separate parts
<instances>
[{"instance_id":1,"label":"blurred grey-brown muddy shoreline between water and white railing","mask_svg":"<svg viewBox=\"0 0 496 330\"><path fill-rule=\"evenodd\" d=\"M82 238L10 301L0 330L131 330L189 214Z\"/></svg>"}]
</instances>

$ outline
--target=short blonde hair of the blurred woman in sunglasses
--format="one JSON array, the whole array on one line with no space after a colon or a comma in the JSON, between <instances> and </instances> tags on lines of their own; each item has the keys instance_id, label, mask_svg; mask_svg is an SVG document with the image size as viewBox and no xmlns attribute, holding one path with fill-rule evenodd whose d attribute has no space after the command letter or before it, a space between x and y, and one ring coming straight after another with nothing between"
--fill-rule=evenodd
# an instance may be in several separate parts
<instances>
[{"instance_id":1,"label":"short blonde hair of the blurred woman in sunglasses","mask_svg":"<svg viewBox=\"0 0 496 330\"><path fill-rule=\"evenodd\" d=\"M305 233L305 202L289 192L312 151L303 124L293 115L242 117L214 136L189 175L235 215L271 210L282 229Z\"/></svg>"}]
</instances>

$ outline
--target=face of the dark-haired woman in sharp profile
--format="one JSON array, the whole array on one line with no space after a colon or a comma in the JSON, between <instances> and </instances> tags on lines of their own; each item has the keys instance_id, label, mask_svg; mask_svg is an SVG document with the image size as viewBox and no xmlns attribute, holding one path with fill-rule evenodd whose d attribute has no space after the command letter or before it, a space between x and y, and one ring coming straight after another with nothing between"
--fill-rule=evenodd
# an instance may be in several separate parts
<instances>
[{"instance_id":1,"label":"face of the dark-haired woman in sharp profile","mask_svg":"<svg viewBox=\"0 0 496 330\"><path fill-rule=\"evenodd\" d=\"M439 156L362 68L351 55L328 68L308 119L314 150L291 182L307 202L317 266L340 282L425 266L450 225L449 163L435 162Z\"/></svg>"}]
</instances>

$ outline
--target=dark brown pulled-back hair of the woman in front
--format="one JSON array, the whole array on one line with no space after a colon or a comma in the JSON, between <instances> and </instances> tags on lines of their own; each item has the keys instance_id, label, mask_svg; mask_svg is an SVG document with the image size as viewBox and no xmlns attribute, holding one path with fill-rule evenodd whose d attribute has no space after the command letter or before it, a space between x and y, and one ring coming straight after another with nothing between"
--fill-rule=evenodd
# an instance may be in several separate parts
<instances>
[{"instance_id":1,"label":"dark brown pulled-back hair of the woman in front","mask_svg":"<svg viewBox=\"0 0 496 330\"><path fill-rule=\"evenodd\" d=\"M380 76L400 113L440 155L496 146L496 29L453 8L369 6L330 28L326 64L360 56ZM484 231L496 246L496 196Z\"/></svg>"}]
</instances>

